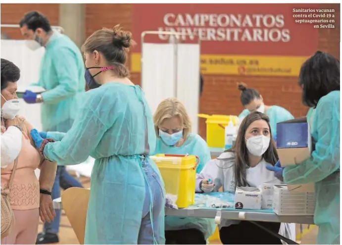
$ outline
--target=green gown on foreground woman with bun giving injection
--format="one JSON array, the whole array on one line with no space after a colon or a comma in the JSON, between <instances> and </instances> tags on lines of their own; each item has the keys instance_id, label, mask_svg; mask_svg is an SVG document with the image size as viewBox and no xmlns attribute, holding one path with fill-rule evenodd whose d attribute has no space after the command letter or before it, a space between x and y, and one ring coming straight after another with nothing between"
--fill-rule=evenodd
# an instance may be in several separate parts
<instances>
[{"instance_id":1,"label":"green gown on foreground woman with bun giving injection","mask_svg":"<svg viewBox=\"0 0 342 245\"><path fill-rule=\"evenodd\" d=\"M85 244L137 244L145 197L139 155L148 155L155 141L140 87L107 83L85 93L72 128L61 141L46 145L44 155L61 165L82 163L89 155L96 159ZM147 159L161 179L155 163ZM154 234L158 244L165 243L164 215L163 209L160 234Z\"/></svg>"}]
</instances>

